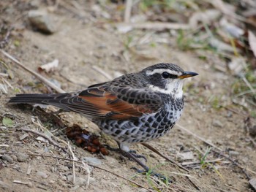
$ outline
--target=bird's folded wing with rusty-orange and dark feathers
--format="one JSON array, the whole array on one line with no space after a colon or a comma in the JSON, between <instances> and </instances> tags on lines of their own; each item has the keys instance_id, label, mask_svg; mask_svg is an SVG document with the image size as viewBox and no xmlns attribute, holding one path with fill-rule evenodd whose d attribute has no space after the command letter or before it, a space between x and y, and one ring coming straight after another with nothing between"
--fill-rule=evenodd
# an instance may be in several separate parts
<instances>
[{"instance_id":1,"label":"bird's folded wing with rusty-orange and dark feathers","mask_svg":"<svg viewBox=\"0 0 256 192\"><path fill-rule=\"evenodd\" d=\"M79 104L69 104L70 110L102 118L137 118L144 113L157 112L162 107L155 93L135 88L118 88L116 93L104 86L91 87L79 93Z\"/></svg>"}]
</instances>

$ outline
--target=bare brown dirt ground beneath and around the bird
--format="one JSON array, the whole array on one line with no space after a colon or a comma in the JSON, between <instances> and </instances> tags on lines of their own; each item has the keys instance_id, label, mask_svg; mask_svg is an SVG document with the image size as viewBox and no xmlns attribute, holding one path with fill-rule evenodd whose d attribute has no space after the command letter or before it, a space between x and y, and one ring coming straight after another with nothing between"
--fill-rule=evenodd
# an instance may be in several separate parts
<instances>
[{"instance_id":1,"label":"bare brown dirt ground beneath and around the bird","mask_svg":"<svg viewBox=\"0 0 256 192\"><path fill-rule=\"evenodd\" d=\"M8 73L12 74L12 78L0 76L11 85L8 86L7 93L1 93L0 120L2 122L7 117L14 122L10 127L0 123L0 191L146 191L110 172L140 183L151 191L253 191L241 169L242 167L250 177L256 177L255 146L244 128L245 116L241 115L246 113L242 108L234 106L230 100L234 77L214 68L218 65L225 66L225 61L207 51L203 52L207 59L202 60L197 52L178 50L176 37L170 37L169 32L151 32L146 37L148 41L144 43L141 39L145 39L147 31L134 30L121 34L114 23L104 22L102 16L97 15L99 12L89 11L96 10L93 1L77 2L80 7L86 7L80 8L79 12L75 12L75 8L67 9L63 4L56 8L46 7L41 1L33 2L36 3L31 5L28 1L1 2L1 7L5 7L1 8L1 19L7 26L15 28L4 50L36 72L38 66L58 59L59 66L56 71L42 72L42 75L48 80L59 82L65 91L78 91L88 85L108 81L102 71L110 77L117 77L160 62L171 62L187 71L199 73L199 76L185 82L186 105L178 125L165 137L148 142L160 153L187 167L189 173L178 169L142 145L132 145L133 150L146 155L147 165L151 169L167 175L173 183L166 184L157 178L137 174L130 168L138 165L119 153L110 151L107 156L89 153L73 145L67 139L64 128L49 122L40 112L35 112L37 110L26 105L7 104L10 96L15 93L49 93L51 90L4 55L0 55L1 61L9 67ZM50 10L56 27L53 34L42 34L29 24L29 10L42 8ZM167 43L160 43L159 39L165 39ZM4 65L0 65L0 70L1 73L7 72ZM50 107L47 111L52 110L55 109ZM61 113L59 117L67 125L76 123L98 134L102 143L116 147L113 140L99 134L99 128L86 118L74 113ZM79 161L88 157L96 158L99 160L96 166L110 172L89 167L91 180L86 185L86 166L75 164L75 176L80 183L77 181L74 184L73 163L67 160L72 159L69 151L64 152L36 134L17 131L18 128L29 128L48 135L42 126L48 128L57 138L70 142ZM206 145L195 135L217 148ZM56 138L52 139L58 142ZM67 148L64 143L58 143ZM209 147L210 153L206 154ZM214 153L214 150L233 159L241 167ZM26 157L26 154L37 155ZM200 164L205 154L206 159ZM50 155L52 158L40 155ZM17 160L24 156L25 159ZM6 158L11 160L7 161Z\"/></svg>"}]
</instances>

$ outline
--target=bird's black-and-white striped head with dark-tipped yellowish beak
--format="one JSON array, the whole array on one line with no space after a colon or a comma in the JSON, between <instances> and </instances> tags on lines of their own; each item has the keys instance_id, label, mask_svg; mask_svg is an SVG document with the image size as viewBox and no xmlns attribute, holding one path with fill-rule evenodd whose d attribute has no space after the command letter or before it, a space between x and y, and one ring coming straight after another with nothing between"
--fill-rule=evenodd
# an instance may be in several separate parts
<instances>
[{"instance_id":1,"label":"bird's black-and-white striped head with dark-tipped yellowish beak","mask_svg":"<svg viewBox=\"0 0 256 192\"><path fill-rule=\"evenodd\" d=\"M195 72L184 72L176 64L167 63L149 66L142 72L146 75L148 88L152 91L171 94L175 98L181 98L183 95L183 80L197 75Z\"/></svg>"}]
</instances>

